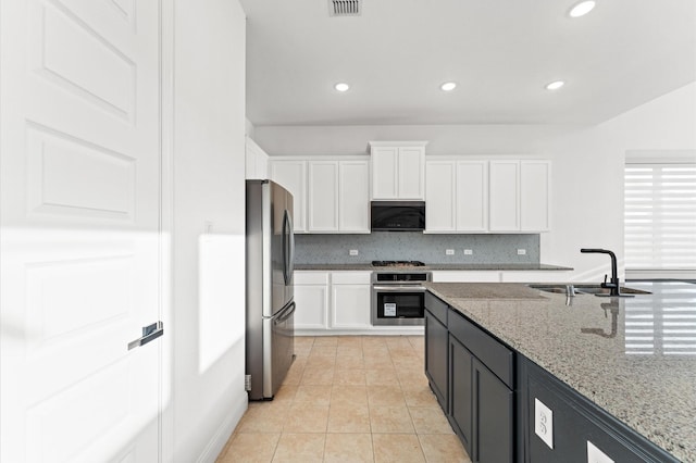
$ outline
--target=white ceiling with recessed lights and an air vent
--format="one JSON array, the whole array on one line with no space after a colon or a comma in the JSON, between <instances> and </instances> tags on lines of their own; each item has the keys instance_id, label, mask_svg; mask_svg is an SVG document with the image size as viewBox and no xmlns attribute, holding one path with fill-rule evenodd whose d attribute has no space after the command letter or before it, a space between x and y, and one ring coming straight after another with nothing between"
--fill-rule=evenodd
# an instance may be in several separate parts
<instances>
[{"instance_id":1,"label":"white ceiling with recessed lights and an air vent","mask_svg":"<svg viewBox=\"0 0 696 463\"><path fill-rule=\"evenodd\" d=\"M695 0L240 2L257 126L596 124L696 80Z\"/></svg>"}]
</instances>

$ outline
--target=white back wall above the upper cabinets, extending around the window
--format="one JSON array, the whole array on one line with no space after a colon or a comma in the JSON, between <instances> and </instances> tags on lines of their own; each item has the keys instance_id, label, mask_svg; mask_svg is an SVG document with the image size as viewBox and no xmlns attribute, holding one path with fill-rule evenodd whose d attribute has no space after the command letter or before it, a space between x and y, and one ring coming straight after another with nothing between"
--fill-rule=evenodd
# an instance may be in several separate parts
<instances>
[{"instance_id":1,"label":"white back wall above the upper cabinets, extending around the window","mask_svg":"<svg viewBox=\"0 0 696 463\"><path fill-rule=\"evenodd\" d=\"M365 153L371 140L430 140L428 154L535 154L554 161L552 232L542 235L542 262L568 265L563 278L598 280L605 255L623 255L623 164L629 149L696 147L696 84L597 126L257 126L271 155Z\"/></svg>"}]
</instances>

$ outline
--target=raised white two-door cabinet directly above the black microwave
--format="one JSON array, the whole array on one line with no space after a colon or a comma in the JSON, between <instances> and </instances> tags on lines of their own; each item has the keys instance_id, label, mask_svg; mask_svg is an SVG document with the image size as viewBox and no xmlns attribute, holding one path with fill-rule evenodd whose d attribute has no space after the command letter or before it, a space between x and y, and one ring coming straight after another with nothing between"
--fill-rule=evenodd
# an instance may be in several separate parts
<instances>
[{"instance_id":1,"label":"raised white two-door cabinet directly above the black microwave","mask_svg":"<svg viewBox=\"0 0 696 463\"><path fill-rule=\"evenodd\" d=\"M426 141L371 141L372 199L425 198Z\"/></svg>"}]
</instances>

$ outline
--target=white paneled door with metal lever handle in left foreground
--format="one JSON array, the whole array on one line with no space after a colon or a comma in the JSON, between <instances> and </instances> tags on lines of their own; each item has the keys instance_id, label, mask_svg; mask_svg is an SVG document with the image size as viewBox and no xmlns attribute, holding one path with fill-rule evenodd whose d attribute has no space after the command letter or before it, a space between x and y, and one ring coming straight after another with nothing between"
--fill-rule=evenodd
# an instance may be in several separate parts
<instances>
[{"instance_id":1,"label":"white paneled door with metal lever handle in left foreground","mask_svg":"<svg viewBox=\"0 0 696 463\"><path fill-rule=\"evenodd\" d=\"M159 458L159 2L0 2L3 462Z\"/></svg>"}]
</instances>

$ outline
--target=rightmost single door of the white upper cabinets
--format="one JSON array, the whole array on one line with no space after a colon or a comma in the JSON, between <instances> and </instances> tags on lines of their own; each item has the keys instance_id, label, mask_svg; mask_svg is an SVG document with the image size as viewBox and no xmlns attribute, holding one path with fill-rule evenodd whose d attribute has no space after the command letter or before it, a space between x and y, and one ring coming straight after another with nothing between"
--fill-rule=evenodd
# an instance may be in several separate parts
<instances>
[{"instance_id":1,"label":"rightmost single door of the white upper cabinets","mask_svg":"<svg viewBox=\"0 0 696 463\"><path fill-rule=\"evenodd\" d=\"M547 232L550 199L549 161L520 162L520 229Z\"/></svg>"}]
</instances>

